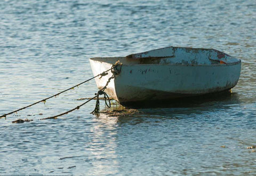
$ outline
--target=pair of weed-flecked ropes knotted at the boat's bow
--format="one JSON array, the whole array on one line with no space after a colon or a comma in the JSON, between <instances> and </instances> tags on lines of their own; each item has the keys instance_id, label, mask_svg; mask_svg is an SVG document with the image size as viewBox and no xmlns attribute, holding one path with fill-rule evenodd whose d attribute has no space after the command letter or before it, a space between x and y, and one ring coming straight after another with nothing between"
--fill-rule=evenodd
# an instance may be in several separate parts
<instances>
[{"instance_id":1,"label":"pair of weed-flecked ropes knotted at the boat's bow","mask_svg":"<svg viewBox=\"0 0 256 176\"><path fill-rule=\"evenodd\" d=\"M106 70L106 71L103 71L101 74L99 74L99 75L97 75L97 76L94 76L94 77L92 77L92 78L90 78L90 79L87 79L86 81L84 81L84 82L82 82L82 83L79 83L79 84L77 84L77 85L75 85L75 86L73 86L73 87L70 87L69 89L66 89L66 90L64 90L64 91L62 91L62 92L59 92L59 93L57 93L57 94L54 94L54 95L52 95L51 97L45 98L45 99L43 99L43 100L37 101L37 102L35 102L35 103L32 103L32 104L30 104L30 105L28 105L28 106L25 106L25 107L22 107L22 108L20 108L20 109L11 111L10 113L4 114L4 115L0 116L0 118L3 118L3 117L6 118L7 115L10 115L10 114L13 114L13 113L17 113L18 111L23 110L23 109L26 109L26 108L28 108L28 107L30 107L30 106L36 105L36 104L39 103L39 102L44 102L44 103L45 103L46 100L48 100L48 99L50 99L50 98L53 98L53 97L57 97L57 95L59 95L59 94L61 94L61 93L63 93L63 92L66 92L66 91L68 91L68 90L74 89L75 87L78 87L79 85L84 84L84 83L90 81L91 79L94 79L95 77L98 77L98 76L101 76L101 77L102 77L102 76L106 76L106 75L108 75L107 71L111 70L111 73L113 73L113 75L108 79L107 84L100 90L100 91L104 91L104 90L106 89L108 83L110 82L110 80L111 80L112 78L114 78L116 74L119 74L119 73L120 73L121 70L118 70L118 69L117 69L117 66L118 66L118 65L122 65L122 63L119 63L119 61L117 61L110 69L108 69L108 70ZM100 78L101 78L101 77L100 77ZM104 92L104 93L105 93L105 92ZM105 94L106 94L106 93L105 93ZM71 109L71 110L66 111L65 113L62 113L62 114L59 114L59 115L56 115L56 116L52 116L52 117L42 118L42 119L56 118L56 117L59 117L59 116L68 114L68 113L70 113L71 111L74 111L74 110L76 110L76 109L79 109L81 106L85 105L85 103L91 101L91 100L94 99L94 98L97 98L97 100L98 100L98 99L99 99L99 95L100 95L100 94L99 94L99 92L98 92L98 93L95 94L95 96L94 96L93 98L91 98L90 100L88 100L88 101L82 103L81 105L77 106L76 108L73 108L73 109ZM106 102L106 99L105 99L105 102ZM109 101L109 102L110 102L110 101ZM110 103L109 103L109 105L110 105Z\"/></svg>"}]
</instances>

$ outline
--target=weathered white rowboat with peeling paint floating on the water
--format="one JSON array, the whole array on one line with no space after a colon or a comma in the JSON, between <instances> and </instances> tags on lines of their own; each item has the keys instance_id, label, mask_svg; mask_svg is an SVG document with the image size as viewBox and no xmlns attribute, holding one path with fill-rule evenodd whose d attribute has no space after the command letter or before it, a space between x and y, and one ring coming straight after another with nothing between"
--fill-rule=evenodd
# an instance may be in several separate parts
<instances>
[{"instance_id":1,"label":"weathered white rowboat with peeling paint floating on the water","mask_svg":"<svg viewBox=\"0 0 256 176\"><path fill-rule=\"evenodd\" d=\"M110 69L116 61L122 63L120 73L105 92L121 105L228 91L241 72L241 60L221 51L171 46L126 57L91 58L93 75ZM111 75L108 71L95 78L98 89Z\"/></svg>"}]
</instances>

